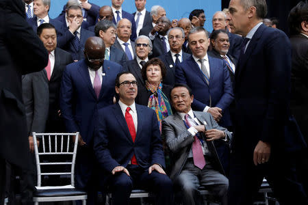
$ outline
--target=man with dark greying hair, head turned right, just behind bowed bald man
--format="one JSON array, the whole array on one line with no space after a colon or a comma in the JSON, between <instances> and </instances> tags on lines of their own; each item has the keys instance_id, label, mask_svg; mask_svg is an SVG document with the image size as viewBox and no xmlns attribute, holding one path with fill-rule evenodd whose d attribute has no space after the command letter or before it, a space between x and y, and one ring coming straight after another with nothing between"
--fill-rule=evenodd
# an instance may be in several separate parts
<instances>
[{"instance_id":1,"label":"man with dark greying hair, head turned right, just behind bowed bald man","mask_svg":"<svg viewBox=\"0 0 308 205\"><path fill-rule=\"evenodd\" d=\"M114 61L127 70L126 55L120 49L116 49L116 25L110 20L101 20L95 25L95 36L103 39L105 43L105 59Z\"/></svg>"}]
</instances>

